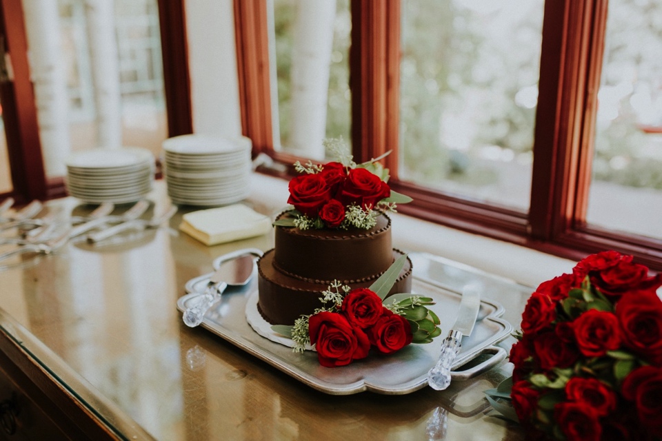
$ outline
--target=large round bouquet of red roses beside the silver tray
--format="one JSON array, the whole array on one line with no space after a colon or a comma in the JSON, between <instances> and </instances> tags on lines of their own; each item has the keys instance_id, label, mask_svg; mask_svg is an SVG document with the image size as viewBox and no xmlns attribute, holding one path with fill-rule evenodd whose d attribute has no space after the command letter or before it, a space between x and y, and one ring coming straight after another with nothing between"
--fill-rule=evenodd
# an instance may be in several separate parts
<instances>
[{"instance_id":1,"label":"large round bouquet of red roses beside the silver tray","mask_svg":"<svg viewBox=\"0 0 662 441\"><path fill-rule=\"evenodd\" d=\"M662 274L648 272L609 251L542 283L512 378L485 391L494 409L535 439L661 440Z\"/></svg>"}]
</instances>

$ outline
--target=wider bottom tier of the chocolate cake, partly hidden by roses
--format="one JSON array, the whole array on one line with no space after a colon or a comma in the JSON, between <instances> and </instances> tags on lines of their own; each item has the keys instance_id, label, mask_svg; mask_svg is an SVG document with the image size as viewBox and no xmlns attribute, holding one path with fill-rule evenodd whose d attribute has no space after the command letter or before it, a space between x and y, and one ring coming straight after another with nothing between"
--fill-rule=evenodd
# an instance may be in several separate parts
<instances>
[{"instance_id":1,"label":"wider bottom tier of the chocolate cake, partly hidden by roses","mask_svg":"<svg viewBox=\"0 0 662 441\"><path fill-rule=\"evenodd\" d=\"M393 250L393 259L404 253ZM270 249L258 261L259 270L259 301L260 314L272 325L293 325L303 314L312 312L322 306L319 298L321 292L328 289L328 284L310 283L279 272L273 265L274 250ZM407 259L396 283L388 295L408 293L412 289L412 262ZM341 280L342 282L342 280ZM362 283L345 283L352 289L368 288L374 280Z\"/></svg>"}]
</instances>

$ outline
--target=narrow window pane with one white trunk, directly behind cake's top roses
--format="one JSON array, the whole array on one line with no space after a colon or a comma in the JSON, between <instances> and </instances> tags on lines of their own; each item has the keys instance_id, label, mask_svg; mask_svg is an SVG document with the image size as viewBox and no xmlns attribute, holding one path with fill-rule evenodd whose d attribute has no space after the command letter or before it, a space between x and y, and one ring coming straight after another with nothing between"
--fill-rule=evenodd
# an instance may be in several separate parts
<instances>
[{"instance_id":1,"label":"narrow window pane with one white trunk, directly behind cake's top roses","mask_svg":"<svg viewBox=\"0 0 662 441\"><path fill-rule=\"evenodd\" d=\"M275 144L323 159L323 139L350 143L349 0L274 0L273 7Z\"/></svg>"}]
</instances>

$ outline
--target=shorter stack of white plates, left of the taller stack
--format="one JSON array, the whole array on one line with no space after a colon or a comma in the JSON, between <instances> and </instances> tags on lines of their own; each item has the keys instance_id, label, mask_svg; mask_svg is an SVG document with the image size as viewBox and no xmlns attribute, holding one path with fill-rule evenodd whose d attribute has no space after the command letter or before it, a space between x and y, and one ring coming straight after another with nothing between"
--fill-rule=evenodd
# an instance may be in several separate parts
<instances>
[{"instance_id":1,"label":"shorter stack of white plates, left of the taller stack","mask_svg":"<svg viewBox=\"0 0 662 441\"><path fill-rule=\"evenodd\" d=\"M154 155L140 147L86 150L66 164L69 194L87 203L139 201L154 181Z\"/></svg>"}]
</instances>

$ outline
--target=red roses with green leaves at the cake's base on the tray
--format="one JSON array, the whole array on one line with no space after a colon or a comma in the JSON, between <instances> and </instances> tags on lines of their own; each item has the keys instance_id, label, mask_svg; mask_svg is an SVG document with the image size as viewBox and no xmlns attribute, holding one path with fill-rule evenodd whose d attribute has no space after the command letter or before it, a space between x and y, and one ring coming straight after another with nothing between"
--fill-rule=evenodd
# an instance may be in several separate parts
<instances>
[{"instance_id":1,"label":"red roses with green leaves at the cake's base on the tray","mask_svg":"<svg viewBox=\"0 0 662 441\"><path fill-rule=\"evenodd\" d=\"M350 289L335 281L322 292L323 306L313 314L301 316L294 326L274 325L272 329L292 338L295 352L314 346L325 367L365 358L371 348L388 354L410 343L432 342L441 334L439 317L426 307L434 305L432 298L412 294L385 298L406 258L398 258L370 288Z\"/></svg>"}]
</instances>

